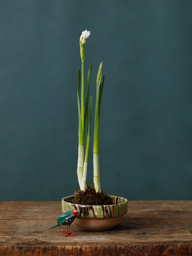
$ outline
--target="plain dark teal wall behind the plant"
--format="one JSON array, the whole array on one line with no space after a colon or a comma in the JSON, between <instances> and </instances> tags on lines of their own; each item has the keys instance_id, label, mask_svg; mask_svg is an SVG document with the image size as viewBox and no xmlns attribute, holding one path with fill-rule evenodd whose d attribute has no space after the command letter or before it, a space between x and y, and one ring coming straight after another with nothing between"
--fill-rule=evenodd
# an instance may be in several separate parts
<instances>
[{"instance_id":1,"label":"plain dark teal wall behind the plant","mask_svg":"<svg viewBox=\"0 0 192 256\"><path fill-rule=\"evenodd\" d=\"M102 189L129 200L191 200L191 11L191 1L1 0L0 200L61 200L78 188L84 29L93 102L101 60L106 74ZM92 182L92 144L89 156Z\"/></svg>"}]
</instances>

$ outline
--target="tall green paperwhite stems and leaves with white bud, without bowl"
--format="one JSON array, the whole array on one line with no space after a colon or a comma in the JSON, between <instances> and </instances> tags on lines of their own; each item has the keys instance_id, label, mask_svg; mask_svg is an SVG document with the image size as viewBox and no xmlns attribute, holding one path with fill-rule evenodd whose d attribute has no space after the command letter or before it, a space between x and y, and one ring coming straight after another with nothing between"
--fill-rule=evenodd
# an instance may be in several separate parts
<instances>
[{"instance_id":1,"label":"tall green paperwhite stems and leaves with white bud, without bowl","mask_svg":"<svg viewBox=\"0 0 192 256\"><path fill-rule=\"evenodd\" d=\"M79 187L86 191L86 173L88 162L88 150L90 145L90 124L92 119L92 97L89 100L90 83L92 76L92 64L88 68L87 88L86 88L86 102L84 104L84 44L86 39L90 36L90 31L83 31L79 44L81 55L81 71L78 70L77 80L77 103L79 116L79 147L78 147L78 161L77 161L77 177ZM96 191L100 191L100 177L99 177L99 120L100 107L102 101L102 90L104 86L104 76L102 75L102 62L100 63L97 74L97 88L95 101L95 125L94 125L94 139L93 139L93 183ZM81 104L80 104L80 88L81 88ZM84 134L86 126L86 150L84 156Z\"/></svg>"}]
</instances>

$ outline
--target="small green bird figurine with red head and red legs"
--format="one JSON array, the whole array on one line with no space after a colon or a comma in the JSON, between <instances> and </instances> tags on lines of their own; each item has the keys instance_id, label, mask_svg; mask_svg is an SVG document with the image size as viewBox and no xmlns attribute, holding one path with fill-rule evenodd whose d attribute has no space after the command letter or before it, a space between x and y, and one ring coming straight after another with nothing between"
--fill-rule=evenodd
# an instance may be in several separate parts
<instances>
[{"instance_id":1,"label":"small green bird figurine with red head and red legs","mask_svg":"<svg viewBox=\"0 0 192 256\"><path fill-rule=\"evenodd\" d=\"M59 218L58 218L58 223L52 227L50 227L49 229L51 228L54 228L54 227L58 227L60 225L67 225L67 232L63 232L65 233L66 235L62 235L62 236L75 236L76 234L72 234L70 233L70 225L71 223L76 219L76 216L77 216L77 213L79 211L77 211L76 209L74 209L74 211L67 211L67 212L64 212Z\"/></svg>"}]
</instances>

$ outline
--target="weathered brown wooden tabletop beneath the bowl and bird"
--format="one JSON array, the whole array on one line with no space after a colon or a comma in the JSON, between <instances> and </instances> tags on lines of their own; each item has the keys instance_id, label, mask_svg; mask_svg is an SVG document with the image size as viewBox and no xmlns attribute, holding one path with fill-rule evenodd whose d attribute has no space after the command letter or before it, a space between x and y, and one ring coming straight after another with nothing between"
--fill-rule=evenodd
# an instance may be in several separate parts
<instances>
[{"instance_id":1,"label":"weathered brown wooden tabletop beneath the bowl and bird","mask_svg":"<svg viewBox=\"0 0 192 256\"><path fill-rule=\"evenodd\" d=\"M192 201L129 202L117 227L61 236L61 202L0 202L0 255L192 255Z\"/></svg>"}]
</instances>

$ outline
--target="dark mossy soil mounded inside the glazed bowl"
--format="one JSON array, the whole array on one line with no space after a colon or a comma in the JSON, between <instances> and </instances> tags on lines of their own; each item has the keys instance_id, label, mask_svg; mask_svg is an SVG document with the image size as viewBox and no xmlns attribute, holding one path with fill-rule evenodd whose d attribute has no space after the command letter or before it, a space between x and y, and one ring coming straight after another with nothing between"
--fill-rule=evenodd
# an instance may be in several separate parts
<instances>
[{"instance_id":1,"label":"dark mossy soil mounded inside the glazed bowl","mask_svg":"<svg viewBox=\"0 0 192 256\"><path fill-rule=\"evenodd\" d=\"M97 192L93 186L87 186L86 191L77 189L74 193L73 204L81 205L110 205L114 204L111 196L108 196L103 191Z\"/></svg>"}]
</instances>

